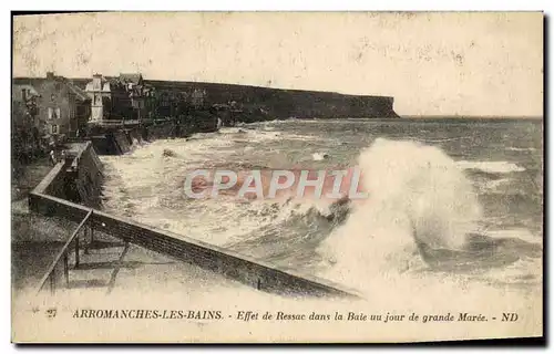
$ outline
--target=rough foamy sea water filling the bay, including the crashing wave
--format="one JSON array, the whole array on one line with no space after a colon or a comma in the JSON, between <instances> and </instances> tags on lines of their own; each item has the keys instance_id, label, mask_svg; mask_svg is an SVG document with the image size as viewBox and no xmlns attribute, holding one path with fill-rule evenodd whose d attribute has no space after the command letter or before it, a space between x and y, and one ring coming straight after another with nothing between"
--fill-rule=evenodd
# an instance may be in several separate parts
<instances>
[{"instance_id":1,"label":"rough foamy sea water filling the bay, including the crashing wave","mask_svg":"<svg viewBox=\"0 0 554 354\"><path fill-rule=\"evenodd\" d=\"M542 137L542 121L524 118L256 123L103 156L104 208L376 301L443 293L444 306L465 294L461 303L493 295L529 308L543 281ZM369 191L345 218L319 200L189 199L183 188L195 168L341 166L360 166ZM460 250L470 232L502 240L491 261L437 269L416 242Z\"/></svg>"}]
</instances>

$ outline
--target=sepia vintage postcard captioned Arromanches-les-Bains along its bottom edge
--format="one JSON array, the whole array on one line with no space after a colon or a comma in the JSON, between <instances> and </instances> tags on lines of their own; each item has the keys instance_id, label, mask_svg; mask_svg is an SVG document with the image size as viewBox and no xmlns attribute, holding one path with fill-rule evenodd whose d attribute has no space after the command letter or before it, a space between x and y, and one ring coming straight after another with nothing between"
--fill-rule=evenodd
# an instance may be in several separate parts
<instances>
[{"instance_id":1,"label":"sepia vintage postcard captioned Arromanches-les-Bains along its bottom edge","mask_svg":"<svg viewBox=\"0 0 554 354\"><path fill-rule=\"evenodd\" d=\"M12 342L543 337L542 12L12 20Z\"/></svg>"}]
</instances>

